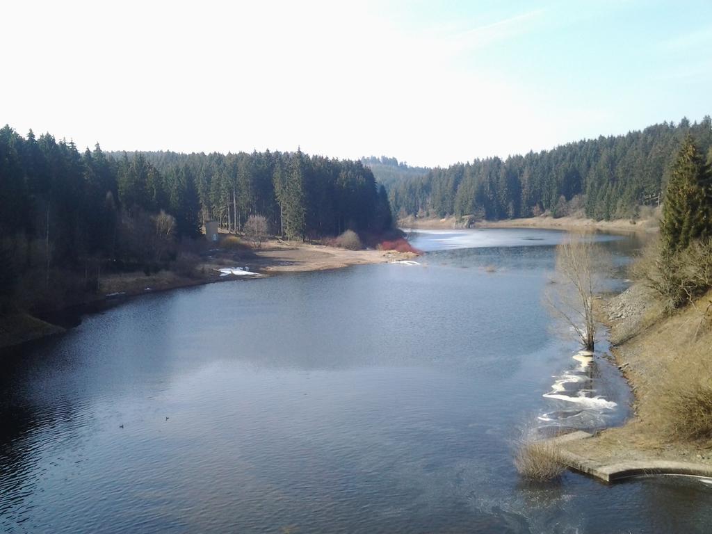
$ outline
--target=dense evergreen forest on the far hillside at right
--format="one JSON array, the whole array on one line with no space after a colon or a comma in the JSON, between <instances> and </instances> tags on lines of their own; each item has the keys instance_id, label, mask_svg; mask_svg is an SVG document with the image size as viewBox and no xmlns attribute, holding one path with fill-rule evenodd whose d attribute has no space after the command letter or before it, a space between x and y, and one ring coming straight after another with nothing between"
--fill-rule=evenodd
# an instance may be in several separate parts
<instances>
[{"instance_id":1,"label":"dense evergreen forest on the far hillside at right","mask_svg":"<svg viewBox=\"0 0 712 534\"><path fill-rule=\"evenodd\" d=\"M706 116L699 123L664 122L553 150L431 169L419 178L389 182L389 198L398 216L634 218L641 204L656 204L664 192L687 134L712 156L712 121Z\"/></svg>"}]
</instances>

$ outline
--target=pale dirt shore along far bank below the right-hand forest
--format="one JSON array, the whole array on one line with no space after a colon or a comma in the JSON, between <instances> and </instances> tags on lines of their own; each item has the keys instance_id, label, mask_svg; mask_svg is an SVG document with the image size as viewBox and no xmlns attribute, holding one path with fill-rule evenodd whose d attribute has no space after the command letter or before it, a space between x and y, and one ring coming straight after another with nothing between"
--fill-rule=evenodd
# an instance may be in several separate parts
<instances>
[{"instance_id":1,"label":"pale dirt shore along far bank below the right-hand forest","mask_svg":"<svg viewBox=\"0 0 712 534\"><path fill-rule=\"evenodd\" d=\"M445 219L415 219L407 217L398 221L401 228L413 228L422 230L444 230L466 227L462 221L455 217ZM658 221L655 218L639 219L630 221L629 219L617 219L615 221L595 221L593 219L580 219L577 217L559 217L557 219L550 216L528 217L526 219L504 219L502 221L477 221L471 228L540 228L554 230L609 230L624 232L649 232L654 233L658 229Z\"/></svg>"}]
</instances>

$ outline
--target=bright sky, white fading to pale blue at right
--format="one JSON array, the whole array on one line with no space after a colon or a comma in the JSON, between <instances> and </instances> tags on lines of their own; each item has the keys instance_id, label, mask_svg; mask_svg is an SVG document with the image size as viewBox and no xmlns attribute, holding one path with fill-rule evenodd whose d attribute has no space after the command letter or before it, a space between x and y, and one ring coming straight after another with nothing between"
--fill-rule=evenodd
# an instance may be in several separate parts
<instances>
[{"instance_id":1,"label":"bright sky, white fading to pale blue at right","mask_svg":"<svg viewBox=\"0 0 712 534\"><path fill-rule=\"evenodd\" d=\"M0 124L446 166L712 113L712 1L6 2Z\"/></svg>"}]
</instances>

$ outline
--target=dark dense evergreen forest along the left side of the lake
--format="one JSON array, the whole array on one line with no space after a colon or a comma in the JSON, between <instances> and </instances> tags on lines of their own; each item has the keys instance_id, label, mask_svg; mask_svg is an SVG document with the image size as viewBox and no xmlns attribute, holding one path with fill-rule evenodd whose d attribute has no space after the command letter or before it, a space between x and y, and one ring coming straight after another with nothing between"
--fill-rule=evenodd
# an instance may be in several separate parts
<instances>
[{"instance_id":1,"label":"dark dense evergreen forest along the left side of the lake","mask_svg":"<svg viewBox=\"0 0 712 534\"><path fill-rule=\"evenodd\" d=\"M361 162L300 150L185 155L105 153L96 145L80 152L71 141L22 137L5 126L0 308L13 293L42 293L29 298L37 303L59 286L89 290L103 269L164 268L204 221L241 231L251 215L290 239L392 228L386 190ZM80 282L87 287L71 287Z\"/></svg>"}]
</instances>

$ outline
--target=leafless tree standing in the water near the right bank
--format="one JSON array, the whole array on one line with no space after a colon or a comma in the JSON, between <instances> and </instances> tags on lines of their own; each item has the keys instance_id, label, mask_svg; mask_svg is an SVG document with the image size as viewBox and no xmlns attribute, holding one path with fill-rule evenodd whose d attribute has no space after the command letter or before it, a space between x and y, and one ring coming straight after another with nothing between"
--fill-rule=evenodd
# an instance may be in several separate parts
<instances>
[{"instance_id":1,"label":"leafless tree standing in the water near the right bank","mask_svg":"<svg viewBox=\"0 0 712 534\"><path fill-rule=\"evenodd\" d=\"M607 254L590 235L568 235L556 247L556 269L546 298L586 350L595 346L593 299L607 265Z\"/></svg>"}]
</instances>

